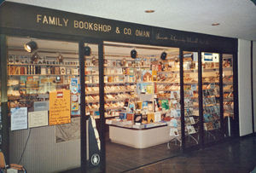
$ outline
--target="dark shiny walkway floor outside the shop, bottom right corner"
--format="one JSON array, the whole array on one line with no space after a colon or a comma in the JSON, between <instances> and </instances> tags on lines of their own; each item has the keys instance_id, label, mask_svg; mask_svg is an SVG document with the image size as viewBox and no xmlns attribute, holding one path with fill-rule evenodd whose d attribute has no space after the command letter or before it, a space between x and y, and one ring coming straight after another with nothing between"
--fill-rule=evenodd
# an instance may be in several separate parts
<instances>
[{"instance_id":1,"label":"dark shiny walkway floor outside the shop, bottom right corner","mask_svg":"<svg viewBox=\"0 0 256 173\"><path fill-rule=\"evenodd\" d=\"M130 173L245 172L256 167L256 137L247 136L149 164Z\"/></svg>"}]
</instances>

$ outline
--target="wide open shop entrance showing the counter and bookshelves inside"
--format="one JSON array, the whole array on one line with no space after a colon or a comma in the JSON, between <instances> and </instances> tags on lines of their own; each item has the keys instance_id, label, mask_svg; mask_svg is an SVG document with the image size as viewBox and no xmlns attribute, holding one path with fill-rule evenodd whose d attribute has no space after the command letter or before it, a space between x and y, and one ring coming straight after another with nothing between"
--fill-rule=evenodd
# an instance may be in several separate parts
<instances>
[{"instance_id":1,"label":"wide open shop entrance showing the counter and bookshelves inside","mask_svg":"<svg viewBox=\"0 0 256 173\"><path fill-rule=\"evenodd\" d=\"M179 49L104 42L107 172L181 153Z\"/></svg>"}]
</instances>

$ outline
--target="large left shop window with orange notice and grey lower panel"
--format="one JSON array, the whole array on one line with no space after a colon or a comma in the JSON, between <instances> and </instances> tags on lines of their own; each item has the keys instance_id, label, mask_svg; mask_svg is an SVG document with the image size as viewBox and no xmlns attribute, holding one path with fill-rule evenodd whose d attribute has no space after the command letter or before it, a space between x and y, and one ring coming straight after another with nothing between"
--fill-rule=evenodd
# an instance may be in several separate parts
<instances>
[{"instance_id":1,"label":"large left shop window with orange notice and grey lower panel","mask_svg":"<svg viewBox=\"0 0 256 173\"><path fill-rule=\"evenodd\" d=\"M32 53L24 49L31 42ZM10 162L19 163L27 139L30 154L20 159L27 171L79 166L79 43L7 37L7 48Z\"/></svg>"}]
</instances>

